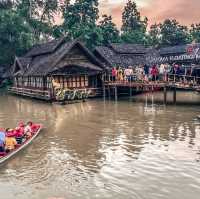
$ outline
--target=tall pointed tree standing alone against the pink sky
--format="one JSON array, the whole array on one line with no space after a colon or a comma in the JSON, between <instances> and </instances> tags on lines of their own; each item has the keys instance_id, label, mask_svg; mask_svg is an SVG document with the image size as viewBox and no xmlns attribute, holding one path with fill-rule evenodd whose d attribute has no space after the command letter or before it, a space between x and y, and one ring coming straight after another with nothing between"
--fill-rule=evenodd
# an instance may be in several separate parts
<instances>
[{"instance_id":1,"label":"tall pointed tree standing alone against the pink sky","mask_svg":"<svg viewBox=\"0 0 200 199\"><path fill-rule=\"evenodd\" d=\"M141 19L136 3L128 0L122 13L122 41L144 44L147 23L147 17Z\"/></svg>"}]
</instances>

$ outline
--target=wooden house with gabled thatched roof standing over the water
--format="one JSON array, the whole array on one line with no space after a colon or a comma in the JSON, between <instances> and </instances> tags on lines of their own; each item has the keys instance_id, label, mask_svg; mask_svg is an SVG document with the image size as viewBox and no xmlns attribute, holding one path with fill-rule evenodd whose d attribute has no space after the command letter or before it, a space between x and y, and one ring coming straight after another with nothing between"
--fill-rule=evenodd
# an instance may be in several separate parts
<instances>
[{"instance_id":1,"label":"wooden house with gabled thatched roof standing over the water","mask_svg":"<svg viewBox=\"0 0 200 199\"><path fill-rule=\"evenodd\" d=\"M61 91L84 90L94 96L102 73L102 64L82 43L62 38L15 58L10 92L46 100L56 100Z\"/></svg>"}]
</instances>

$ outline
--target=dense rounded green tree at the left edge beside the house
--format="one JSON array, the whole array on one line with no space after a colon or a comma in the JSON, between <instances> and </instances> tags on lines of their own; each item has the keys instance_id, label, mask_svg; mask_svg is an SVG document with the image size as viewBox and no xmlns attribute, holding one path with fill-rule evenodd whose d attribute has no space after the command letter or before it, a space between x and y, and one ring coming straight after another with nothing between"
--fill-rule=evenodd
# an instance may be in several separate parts
<instances>
[{"instance_id":1,"label":"dense rounded green tree at the left edge beside the house","mask_svg":"<svg viewBox=\"0 0 200 199\"><path fill-rule=\"evenodd\" d=\"M22 55L32 46L31 27L16 11L0 12L0 65L13 63L15 55Z\"/></svg>"}]
</instances>

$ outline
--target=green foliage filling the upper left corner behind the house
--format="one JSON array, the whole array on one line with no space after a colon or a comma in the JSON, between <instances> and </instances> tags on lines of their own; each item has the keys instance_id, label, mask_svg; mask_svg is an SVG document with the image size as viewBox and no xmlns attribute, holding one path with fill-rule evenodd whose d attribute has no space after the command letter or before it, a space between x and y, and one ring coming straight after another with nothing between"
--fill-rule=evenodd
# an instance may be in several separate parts
<instances>
[{"instance_id":1,"label":"green foliage filling the upper left corner behind the house","mask_svg":"<svg viewBox=\"0 0 200 199\"><path fill-rule=\"evenodd\" d=\"M0 65L13 63L33 44L48 40L53 32L55 0L18 0L0 7Z\"/></svg>"}]
</instances>

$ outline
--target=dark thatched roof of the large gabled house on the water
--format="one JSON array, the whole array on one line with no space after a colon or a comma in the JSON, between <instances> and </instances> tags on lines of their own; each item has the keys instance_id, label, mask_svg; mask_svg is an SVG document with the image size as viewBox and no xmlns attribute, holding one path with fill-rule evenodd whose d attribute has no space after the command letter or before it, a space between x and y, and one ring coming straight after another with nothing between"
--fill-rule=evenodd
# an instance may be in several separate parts
<instances>
[{"instance_id":1,"label":"dark thatched roof of the large gabled house on the water","mask_svg":"<svg viewBox=\"0 0 200 199\"><path fill-rule=\"evenodd\" d=\"M65 65L63 65L61 60L70 53L73 47L81 49L90 62L86 64L81 63L79 60L75 62L67 60ZM82 43L76 40L66 42L65 39L53 40L46 44L37 45L33 47L25 57L16 58L14 68L16 67L16 63L20 66L20 72L25 76L46 76L59 68L70 65L77 65L87 69L89 68L96 72L102 71L103 68L102 64Z\"/></svg>"}]
</instances>

